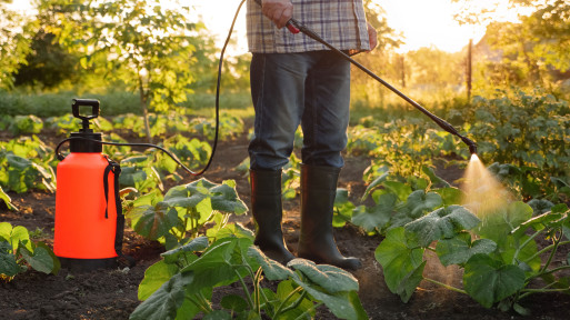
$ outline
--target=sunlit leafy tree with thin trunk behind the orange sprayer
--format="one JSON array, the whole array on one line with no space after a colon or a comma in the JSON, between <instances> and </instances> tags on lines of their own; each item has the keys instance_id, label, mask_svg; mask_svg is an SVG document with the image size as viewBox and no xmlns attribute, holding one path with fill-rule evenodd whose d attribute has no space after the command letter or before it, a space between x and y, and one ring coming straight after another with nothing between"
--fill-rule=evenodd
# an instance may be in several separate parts
<instances>
[{"instance_id":1,"label":"sunlit leafy tree with thin trunk behind the orange sprayer","mask_svg":"<svg viewBox=\"0 0 570 320\"><path fill-rule=\"evenodd\" d=\"M190 8L178 1L41 0L48 10L71 6L49 30L66 48L81 54L86 69L100 73L107 84L122 81L138 92L149 141L149 111L163 112L187 100L196 79L193 56L202 38L201 23L190 22ZM70 10L71 11L71 10Z\"/></svg>"}]
</instances>

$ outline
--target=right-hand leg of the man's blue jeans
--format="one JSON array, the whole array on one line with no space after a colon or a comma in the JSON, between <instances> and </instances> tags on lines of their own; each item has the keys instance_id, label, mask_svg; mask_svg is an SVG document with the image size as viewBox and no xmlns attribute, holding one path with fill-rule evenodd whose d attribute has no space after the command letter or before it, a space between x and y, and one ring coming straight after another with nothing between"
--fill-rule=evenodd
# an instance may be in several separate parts
<instances>
[{"instance_id":1,"label":"right-hand leg of the man's blue jeans","mask_svg":"<svg viewBox=\"0 0 570 320\"><path fill-rule=\"evenodd\" d=\"M308 74L306 90L302 162L342 168L341 151L348 142L350 62L334 52L321 52Z\"/></svg>"}]
</instances>

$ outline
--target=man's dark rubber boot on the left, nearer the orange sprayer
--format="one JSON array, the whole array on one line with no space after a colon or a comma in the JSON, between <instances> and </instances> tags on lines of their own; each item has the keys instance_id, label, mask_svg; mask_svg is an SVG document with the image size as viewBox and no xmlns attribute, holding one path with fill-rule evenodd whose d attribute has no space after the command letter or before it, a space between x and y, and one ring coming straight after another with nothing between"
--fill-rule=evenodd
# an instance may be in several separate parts
<instances>
[{"instance_id":1,"label":"man's dark rubber boot on the left, nearer the orange sprayer","mask_svg":"<svg viewBox=\"0 0 570 320\"><path fill-rule=\"evenodd\" d=\"M281 219L281 170L250 170L251 211L256 220L256 240L269 258L287 264L294 256L286 248Z\"/></svg>"}]
</instances>

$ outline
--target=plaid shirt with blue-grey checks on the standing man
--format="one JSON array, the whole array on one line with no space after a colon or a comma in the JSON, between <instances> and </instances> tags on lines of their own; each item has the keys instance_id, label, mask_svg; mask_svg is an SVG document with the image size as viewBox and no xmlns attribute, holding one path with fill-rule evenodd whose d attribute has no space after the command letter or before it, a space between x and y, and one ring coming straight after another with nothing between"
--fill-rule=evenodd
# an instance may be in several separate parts
<instances>
[{"instance_id":1,"label":"plaid shirt with blue-grey checks on the standing man","mask_svg":"<svg viewBox=\"0 0 570 320\"><path fill-rule=\"evenodd\" d=\"M370 50L362 0L292 0L293 18L340 50ZM302 34L277 27L248 0L248 47L256 53L293 53L328 50Z\"/></svg>"}]
</instances>

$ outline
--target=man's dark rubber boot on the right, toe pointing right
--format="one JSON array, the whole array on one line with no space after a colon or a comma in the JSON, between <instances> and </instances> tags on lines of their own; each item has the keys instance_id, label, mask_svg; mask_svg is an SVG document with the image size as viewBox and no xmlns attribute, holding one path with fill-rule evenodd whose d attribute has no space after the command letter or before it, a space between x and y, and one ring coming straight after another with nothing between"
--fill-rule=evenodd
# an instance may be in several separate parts
<instances>
[{"instance_id":1,"label":"man's dark rubber boot on the right, toe pointing right","mask_svg":"<svg viewBox=\"0 0 570 320\"><path fill-rule=\"evenodd\" d=\"M362 268L362 263L340 253L332 232L339 174L338 168L301 164L301 233L297 256L353 271Z\"/></svg>"}]
</instances>

